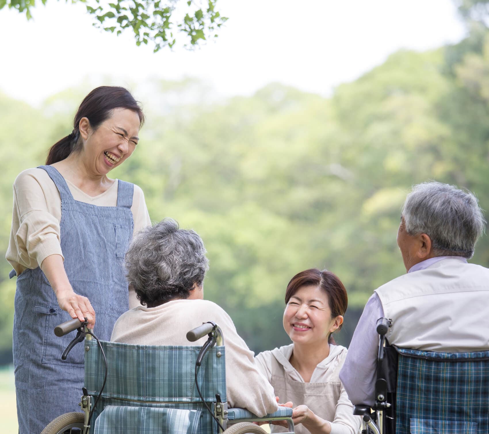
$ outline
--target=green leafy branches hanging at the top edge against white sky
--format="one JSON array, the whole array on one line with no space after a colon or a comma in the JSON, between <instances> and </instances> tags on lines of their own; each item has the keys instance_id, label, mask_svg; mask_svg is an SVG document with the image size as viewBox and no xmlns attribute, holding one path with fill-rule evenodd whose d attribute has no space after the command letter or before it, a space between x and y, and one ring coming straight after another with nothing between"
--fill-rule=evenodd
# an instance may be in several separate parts
<instances>
[{"instance_id":1,"label":"green leafy branches hanging at the top edge against white sky","mask_svg":"<svg viewBox=\"0 0 489 434\"><path fill-rule=\"evenodd\" d=\"M46 0L41 0L43 4ZM218 36L227 21L216 9L217 0L71 0L85 3L93 16L93 25L121 34L132 29L136 45L154 43L154 51L177 43L177 33L185 34L184 46L195 47ZM38 0L39 3L39 0ZM32 18L35 0L0 0L0 9L8 6Z\"/></svg>"}]
</instances>

